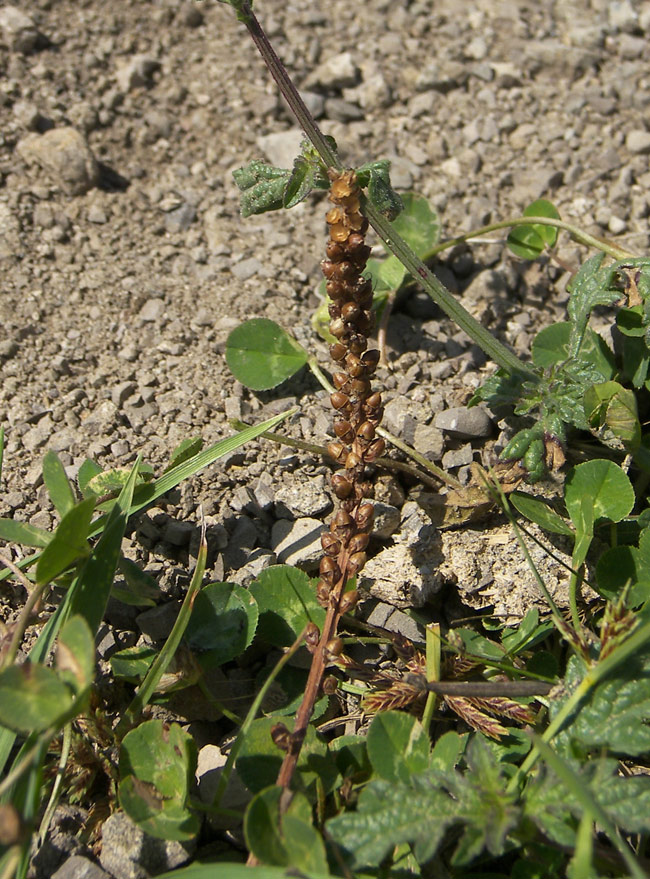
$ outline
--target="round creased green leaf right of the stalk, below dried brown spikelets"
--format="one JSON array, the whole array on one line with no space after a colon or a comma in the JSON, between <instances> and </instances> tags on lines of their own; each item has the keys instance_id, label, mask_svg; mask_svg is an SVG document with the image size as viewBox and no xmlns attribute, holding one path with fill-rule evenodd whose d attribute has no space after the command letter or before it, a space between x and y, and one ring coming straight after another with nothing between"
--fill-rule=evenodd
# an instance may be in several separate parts
<instances>
[{"instance_id":1,"label":"round creased green leaf right of the stalk, below dried brown spikelets","mask_svg":"<svg viewBox=\"0 0 650 879\"><path fill-rule=\"evenodd\" d=\"M380 778L408 781L429 766L429 734L412 715L382 711L368 730L368 757Z\"/></svg>"}]
</instances>

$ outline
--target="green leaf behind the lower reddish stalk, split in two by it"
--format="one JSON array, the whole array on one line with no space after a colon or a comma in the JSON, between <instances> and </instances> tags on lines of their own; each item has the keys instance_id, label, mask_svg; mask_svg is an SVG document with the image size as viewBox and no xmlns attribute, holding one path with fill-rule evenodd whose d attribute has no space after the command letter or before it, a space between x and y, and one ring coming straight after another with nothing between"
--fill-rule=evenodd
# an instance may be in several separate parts
<instances>
[{"instance_id":1,"label":"green leaf behind the lower reddish stalk, split in two by it","mask_svg":"<svg viewBox=\"0 0 650 879\"><path fill-rule=\"evenodd\" d=\"M275 784L283 754L271 738L271 727L285 720L278 716L258 717L246 733L236 765L239 777L252 793ZM298 772L294 777L296 789L311 794L317 784L322 784L327 792L332 789L337 774L327 745L314 727L309 726L298 759Z\"/></svg>"}]
</instances>

